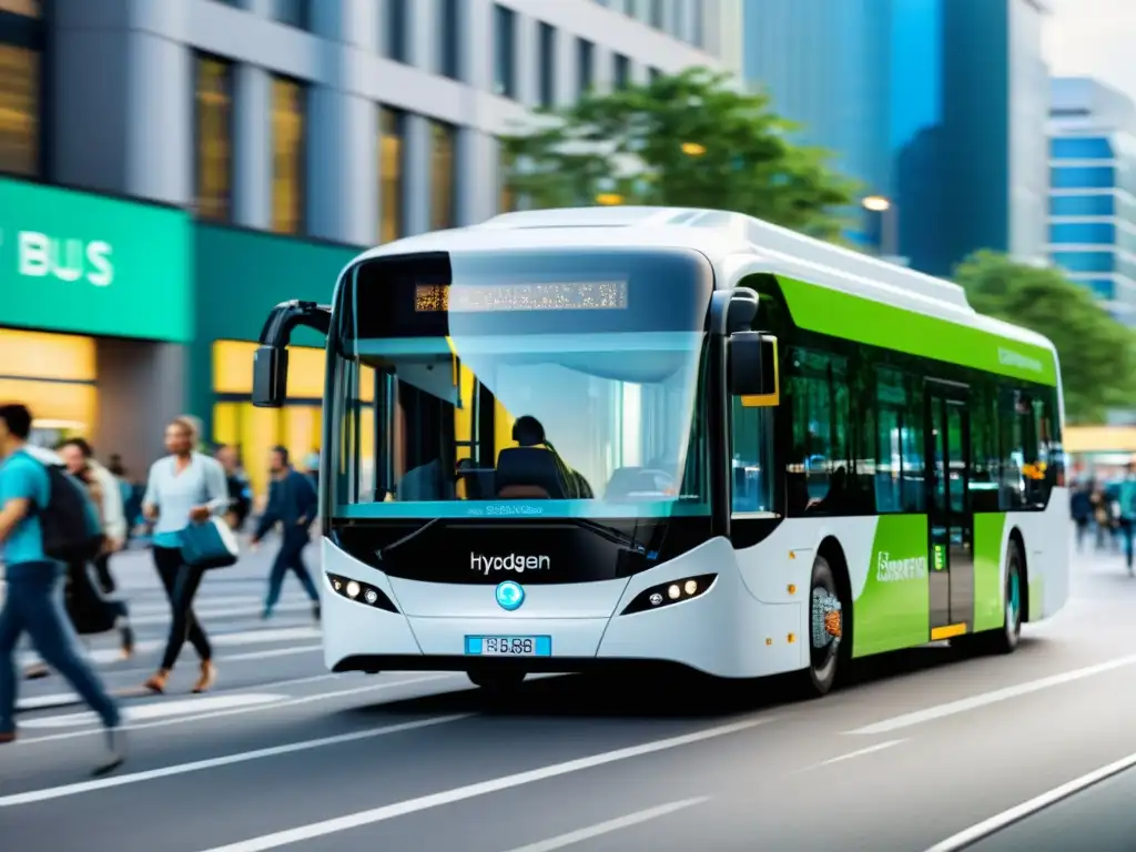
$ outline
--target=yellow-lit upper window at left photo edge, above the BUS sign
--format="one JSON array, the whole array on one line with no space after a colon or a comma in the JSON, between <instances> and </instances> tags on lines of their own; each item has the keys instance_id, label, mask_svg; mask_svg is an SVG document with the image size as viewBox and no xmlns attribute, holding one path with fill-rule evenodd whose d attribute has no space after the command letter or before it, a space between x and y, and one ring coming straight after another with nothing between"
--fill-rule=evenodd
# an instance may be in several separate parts
<instances>
[{"instance_id":1,"label":"yellow-lit upper window at left photo edge, above the BUS sign","mask_svg":"<svg viewBox=\"0 0 1136 852\"><path fill-rule=\"evenodd\" d=\"M40 172L40 53L0 44L0 172Z\"/></svg>"}]
</instances>

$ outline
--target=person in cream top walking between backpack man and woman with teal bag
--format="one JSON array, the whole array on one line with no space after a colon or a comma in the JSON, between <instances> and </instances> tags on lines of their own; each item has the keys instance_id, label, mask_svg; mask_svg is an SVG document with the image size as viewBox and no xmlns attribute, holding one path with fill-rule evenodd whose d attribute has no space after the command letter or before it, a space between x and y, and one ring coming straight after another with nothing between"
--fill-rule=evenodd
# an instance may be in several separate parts
<instances>
[{"instance_id":1,"label":"person in cream top walking between backpack man and woman with teal bag","mask_svg":"<svg viewBox=\"0 0 1136 852\"><path fill-rule=\"evenodd\" d=\"M72 437L59 445L59 457L67 470L86 485L99 508L105 542L102 550L92 560L99 588L103 595L114 595L117 585L110 573L110 557L126 543L126 516L123 513L123 494L118 478L94 459L94 450L82 437ZM86 563L72 563L68 575L73 584L86 578ZM134 630L131 628L130 611L120 598L108 598L106 603L115 610L115 626L122 641L123 659L134 655Z\"/></svg>"}]
</instances>

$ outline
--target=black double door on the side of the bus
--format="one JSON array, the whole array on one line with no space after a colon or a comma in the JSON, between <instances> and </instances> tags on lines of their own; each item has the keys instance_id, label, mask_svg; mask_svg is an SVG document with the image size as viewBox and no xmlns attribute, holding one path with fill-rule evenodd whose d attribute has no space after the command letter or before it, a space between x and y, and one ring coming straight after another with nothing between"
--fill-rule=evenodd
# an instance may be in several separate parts
<instances>
[{"instance_id":1,"label":"black double door on the side of the bus","mask_svg":"<svg viewBox=\"0 0 1136 852\"><path fill-rule=\"evenodd\" d=\"M925 399L930 638L938 641L974 626L970 418L963 385L928 381Z\"/></svg>"}]
</instances>

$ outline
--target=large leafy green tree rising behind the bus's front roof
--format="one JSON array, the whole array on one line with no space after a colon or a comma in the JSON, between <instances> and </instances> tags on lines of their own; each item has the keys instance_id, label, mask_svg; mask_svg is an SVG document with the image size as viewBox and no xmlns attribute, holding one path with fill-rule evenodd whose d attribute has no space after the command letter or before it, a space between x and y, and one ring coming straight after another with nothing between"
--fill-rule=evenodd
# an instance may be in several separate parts
<instances>
[{"instance_id":1,"label":"large leafy green tree rising behind the bus's front roof","mask_svg":"<svg viewBox=\"0 0 1136 852\"><path fill-rule=\"evenodd\" d=\"M792 144L794 128L765 94L692 68L535 114L502 140L506 182L538 208L608 199L713 208L834 239L834 211L857 187L829 169L827 152Z\"/></svg>"}]
</instances>

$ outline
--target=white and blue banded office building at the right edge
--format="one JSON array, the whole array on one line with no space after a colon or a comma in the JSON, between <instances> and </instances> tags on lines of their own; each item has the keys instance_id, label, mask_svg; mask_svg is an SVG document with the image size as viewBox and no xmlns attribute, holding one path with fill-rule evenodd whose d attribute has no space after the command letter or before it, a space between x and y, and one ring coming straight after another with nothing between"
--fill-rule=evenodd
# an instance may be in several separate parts
<instances>
[{"instance_id":1,"label":"white and blue banded office building at the right edge","mask_svg":"<svg viewBox=\"0 0 1136 852\"><path fill-rule=\"evenodd\" d=\"M1050 258L1136 325L1136 106L1089 77L1052 83Z\"/></svg>"}]
</instances>

